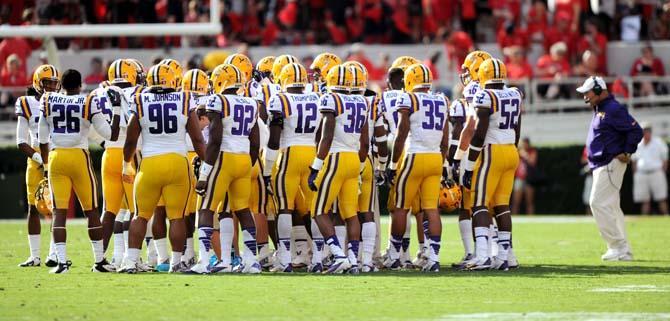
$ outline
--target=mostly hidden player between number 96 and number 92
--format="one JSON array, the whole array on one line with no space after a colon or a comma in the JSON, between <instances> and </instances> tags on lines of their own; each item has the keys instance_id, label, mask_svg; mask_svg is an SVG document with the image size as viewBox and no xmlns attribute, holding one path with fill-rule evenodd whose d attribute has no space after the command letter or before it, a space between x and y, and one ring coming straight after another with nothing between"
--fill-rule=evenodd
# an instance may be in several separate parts
<instances>
[{"instance_id":1,"label":"mostly hidden player between number 96 and number 92","mask_svg":"<svg viewBox=\"0 0 670 321\"><path fill-rule=\"evenodd\" d=\"M204 105L207 95L210 93L209 88L209 78L207 74L200 69L191 69L184 74L182 79L181 89L184 92L190 93L194 100L196 101L196 106ZM194 106L195 107L195 106ZM207 117L198 117L198 129L201 131L204 127L209 125ZM186 158L188 158L188 163L193 164L195 158L198 154L195 152L195 147L193 142L190 139L186 139ZM188 194L188 209L186 211L186 249L184 250L184 255L182 256L182 262L187 267L191 267L195 264L195 249L193 243L193 233L195 231L195 218L196 218L196 200L197 195L195 193L195 182L196 177L192 177L191 180L191 190Z\"/></svg>"}]
</instances>

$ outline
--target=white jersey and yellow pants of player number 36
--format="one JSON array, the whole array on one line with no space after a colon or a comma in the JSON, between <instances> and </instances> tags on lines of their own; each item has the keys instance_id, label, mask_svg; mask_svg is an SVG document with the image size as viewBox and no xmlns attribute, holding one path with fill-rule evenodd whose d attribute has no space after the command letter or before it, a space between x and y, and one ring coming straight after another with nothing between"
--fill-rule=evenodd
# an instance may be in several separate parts
<instances>
[{"instance_id":1,"label":"white jersey and yellow pants of player number 36","mask_svg":"<svg viewBox=\"0 0 670 321\"><path fill-rule=\"evenodd\" d=\"M333 113L333 142L316 178L317 192L312 201L312 215L327 214L337 198L343 219L357 215L358 180L360 176L360 135L368 113L368 103L361 95L328 93L321 97L321 113Z\"/></svg>"}]
</instances>

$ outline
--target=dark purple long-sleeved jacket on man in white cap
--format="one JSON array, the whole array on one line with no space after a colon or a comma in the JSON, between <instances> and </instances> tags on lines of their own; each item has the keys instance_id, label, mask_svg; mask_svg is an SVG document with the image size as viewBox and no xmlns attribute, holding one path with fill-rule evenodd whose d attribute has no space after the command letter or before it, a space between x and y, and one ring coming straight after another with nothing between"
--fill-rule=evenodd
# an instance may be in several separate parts
<instances>
[{"instance_id":1,"label":"dark purple long-sleeved jacket on man in white cap","mask_svg":"<svg viewBox=\"0 0 670 321\"><path fill-rule=\"evenodd\" d=\"M621 153L635 153L642 140L642 128L613 96L593 109L591 129L586 138L589 167L605 166Z\"/></svg>"}]
</instances>

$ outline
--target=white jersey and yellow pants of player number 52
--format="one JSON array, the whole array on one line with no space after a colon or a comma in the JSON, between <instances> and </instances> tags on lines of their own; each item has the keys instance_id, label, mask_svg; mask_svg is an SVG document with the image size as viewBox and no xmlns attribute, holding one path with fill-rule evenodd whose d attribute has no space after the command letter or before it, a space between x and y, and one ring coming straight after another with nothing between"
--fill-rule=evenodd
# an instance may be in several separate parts
<instances>
[{"instance_id":1,"label":"white jersey and yellow pants of player number 52","mask_svg":"<svg viewBox=\"0 0 670 321\"><path fill-rule=\"evenodd\" d=\"M509 205L519 165L515 128L523 96L516 87L480 90L475 108L490 110L489 128L472 175L471 206Z\"/></svg>"}]
</instances>

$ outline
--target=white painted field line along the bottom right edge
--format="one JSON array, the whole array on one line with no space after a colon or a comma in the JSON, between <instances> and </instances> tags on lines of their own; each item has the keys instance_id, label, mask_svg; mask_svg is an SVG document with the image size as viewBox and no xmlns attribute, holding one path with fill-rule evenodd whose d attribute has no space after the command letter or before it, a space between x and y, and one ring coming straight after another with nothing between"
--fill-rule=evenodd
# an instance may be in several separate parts
<instances>
[{"instance_id":1,"label":"white painted field line along the bottom right edge","mask_svg":"<svg viewBox=\"0 0 670 321\"><path fill-rule=\"evenodd\" d=\"M542 320L542 321L638 321L670 320L670 313L632 313L632 312L528 312L528 313L472 313L450 314L436 320Z\"/></svg>"}]
</instances>

